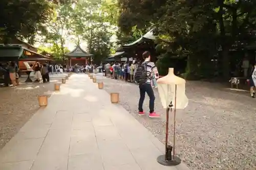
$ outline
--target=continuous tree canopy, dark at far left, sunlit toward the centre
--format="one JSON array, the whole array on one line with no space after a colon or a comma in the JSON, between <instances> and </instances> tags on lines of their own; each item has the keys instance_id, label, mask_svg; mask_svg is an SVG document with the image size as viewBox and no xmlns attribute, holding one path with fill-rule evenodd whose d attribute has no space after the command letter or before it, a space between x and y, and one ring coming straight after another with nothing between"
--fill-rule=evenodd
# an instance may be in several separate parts
<instances>
[{"instance_id":1,"label":"continuous tree canopy, dark at far left, sunlit toward the centre","mask_svg":"<svg viewBox=\"0 0 256 170\"><path fill-rule=\"evenodd\" d=\"M67 53L70 43L85 43L95 62L113 52L111 37L117 30L116 1L3 0L0 2L0 38L39 42L56 58ZM49 49L50 50L49 50Z\"/></svg>"}]
</instances>

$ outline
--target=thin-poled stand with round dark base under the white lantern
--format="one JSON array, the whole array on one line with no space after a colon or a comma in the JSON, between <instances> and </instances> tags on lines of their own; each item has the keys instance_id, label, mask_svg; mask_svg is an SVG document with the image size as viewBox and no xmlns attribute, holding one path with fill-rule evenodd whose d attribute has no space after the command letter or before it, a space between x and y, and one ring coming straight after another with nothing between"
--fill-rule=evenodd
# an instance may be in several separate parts
<instances>
[{"instance_id":1,"label":"thin-poled stand with round dark base under the white lantern","mask_svg":"<svg viewBox=\"0 0 256 170\"><path fill-rule=\"evenodd\" d=\"M175 166L181 163L180 158L175 155L175 132L176 132L176 94L177 85L175 85L175 104L170 102L169 106L166 108L166 127L165 127L165 155L160 155L157 157L157 162L165 166ZM174 106L174 136L173 136L173 146L168 144L168 129L169 129L169 111L172 112L172 107ZM173 154L172 154L173 151Z\"/></svg>"}]
</instances>

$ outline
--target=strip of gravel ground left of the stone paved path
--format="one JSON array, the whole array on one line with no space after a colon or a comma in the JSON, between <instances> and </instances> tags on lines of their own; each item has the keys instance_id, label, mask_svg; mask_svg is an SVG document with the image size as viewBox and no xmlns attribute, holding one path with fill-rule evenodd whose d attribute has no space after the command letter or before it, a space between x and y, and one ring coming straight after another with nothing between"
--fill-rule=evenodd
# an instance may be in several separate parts
<instances>
[{"instance_id":1,"label":"strip of gravel ground left of the stone paved path","mask_svg":"<svg viewBox=\"0 0 256 170\"><path fill-rule=\"evenodd\" d=\"M25 83L22 78L17 87L0 88L0 149L23 127L38 110L38 95L50 95L54 83L64 75L51 76L50 83Z\"/></svg>"}]
</instances>

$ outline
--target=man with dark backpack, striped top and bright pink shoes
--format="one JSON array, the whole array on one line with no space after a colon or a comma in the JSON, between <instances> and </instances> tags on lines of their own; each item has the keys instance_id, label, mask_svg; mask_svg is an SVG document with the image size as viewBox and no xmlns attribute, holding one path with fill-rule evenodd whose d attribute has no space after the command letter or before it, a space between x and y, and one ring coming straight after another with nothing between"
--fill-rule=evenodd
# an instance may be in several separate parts
<instances>
[{"instance_id":1,"label":"man with dark backpack, striped top and bright pink shoes","mask_svg":"<svg viewBox=\"0 0 256 170\"><path fill-rule=\"evenodd\" d=\"M139 100L139 113L138 115L144 115L145 112L143 111L143 102L145 99L145 93L147 93L148 97L150 98L150 114L149 117L159 117L159 114L156 114L154 111L155 105L155 95L153 88L151 86L151 76L155 74L156 79L158 79L158 72L155 63L150 62L151 54L150 52L144 52L142 54L144 62L140 63L135 72L135 81L139 83L140 89L140 100Z\"/></svg>"}]
</instances>

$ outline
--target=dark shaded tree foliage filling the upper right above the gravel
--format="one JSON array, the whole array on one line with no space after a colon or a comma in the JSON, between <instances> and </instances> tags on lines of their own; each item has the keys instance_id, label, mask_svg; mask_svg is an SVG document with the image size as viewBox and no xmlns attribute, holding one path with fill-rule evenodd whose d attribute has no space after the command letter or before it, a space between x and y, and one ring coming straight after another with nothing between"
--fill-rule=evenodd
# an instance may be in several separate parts
<instances>
[{"instance_id":1,"label":"dark shaded tree foliage filling the upper right above the gravel","mask_svg":"<svg viewBox=\"0 0 256 170\"><path fill-rule=\"evenodd\" d=\"M255 3L252 0L119 0L122 11L119 27L123 32L130 32L134 26L138 29L155 26L156 34L165 38L164 45L169 51L189 52L187 68L191 74L200 75L210 57L221 50L222 75L228 78L230 49L244 47L254 40Z\"/></svg>"}]
</instances>

